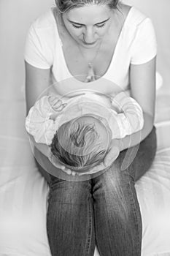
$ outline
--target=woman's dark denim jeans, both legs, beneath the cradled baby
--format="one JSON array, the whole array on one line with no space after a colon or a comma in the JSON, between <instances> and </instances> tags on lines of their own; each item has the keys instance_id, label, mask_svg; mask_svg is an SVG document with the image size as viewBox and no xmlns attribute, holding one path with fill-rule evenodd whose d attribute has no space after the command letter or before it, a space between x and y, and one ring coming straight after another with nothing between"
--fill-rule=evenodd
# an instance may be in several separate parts
<instances>
[{"instance_id":1,"label":"woman's dark denim jeans, both legs, beneath the cradled baby","mask_svg":"<svg viewBox=\"0 0 170 256\"><path fill-rule=\"evenodd\" d=\"M65 181L51 175L47 236L53 256L139 256L142 219L134 187L155 157L155 127L140 143L134 161L120 166L125 151L100 176Z\"/></svg>"}]
</instances>

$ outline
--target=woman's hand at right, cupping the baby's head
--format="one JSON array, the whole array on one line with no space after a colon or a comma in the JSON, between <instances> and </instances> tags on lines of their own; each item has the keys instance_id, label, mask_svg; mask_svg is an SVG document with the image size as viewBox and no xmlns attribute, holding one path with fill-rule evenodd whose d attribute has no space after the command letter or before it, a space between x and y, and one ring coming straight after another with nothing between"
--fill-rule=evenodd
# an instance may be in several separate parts
<instances>
[{"instance_id":1,"label":"woman's hand at right, cupping the baby's head","mask_svg":"<svg viewBox=\"0 0 170 256\"><path fill-rule=\"evenodd\" d=\"M109 145L109 151L104 158L104 162L101 162L100 165L96 165L92 169L90 169L88 172L85 173L76 173L78 176L82 176L85 174L93 174L93 173L98 173L100 170L104 170L107 167L112 165L112 162L117 159L117 157L120 154L120 140L112 140L110 145Z\"/></svg>"}]
</instances>

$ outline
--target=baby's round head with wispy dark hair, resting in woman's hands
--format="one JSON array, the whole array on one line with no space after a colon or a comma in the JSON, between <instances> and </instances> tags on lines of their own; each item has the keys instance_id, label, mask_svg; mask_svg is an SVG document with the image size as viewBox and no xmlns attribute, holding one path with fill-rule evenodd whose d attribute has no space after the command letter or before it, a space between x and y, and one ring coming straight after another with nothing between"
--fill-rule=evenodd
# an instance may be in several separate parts
<instances>
[{"instance_id":1,"label":"baby's round head with wispy dark hair, resting in woman's hands","mask_svg":"<svg viewBox=\"0 0 170 256\"><path fill-rule=\"evenodd\" d=\"M55 132L50 149L55 158L71 167L100 163L107 153L94 125L77 120L61 125Z\"/></svg>"}]
</instances>

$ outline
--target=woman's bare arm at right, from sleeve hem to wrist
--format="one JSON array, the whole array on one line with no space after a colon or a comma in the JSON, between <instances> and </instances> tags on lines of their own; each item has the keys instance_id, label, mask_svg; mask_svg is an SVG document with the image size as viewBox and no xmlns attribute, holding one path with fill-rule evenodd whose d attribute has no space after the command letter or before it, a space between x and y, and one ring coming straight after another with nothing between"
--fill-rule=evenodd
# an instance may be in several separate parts
<instances>
[{"instance_id":1,"label":"woman's bare arm at right, from sleeve hem to wrist","mask_svg":"<svg viewBox=\"0 0 170 256\"><path fill-rule=\"evenodd\" d=\"M156 58L146 64L131 65L131 97L142 107L144 127L121 140L120 151L140 143L152 130L155 118L155 63Z\"/></svg>"}]
</instances>

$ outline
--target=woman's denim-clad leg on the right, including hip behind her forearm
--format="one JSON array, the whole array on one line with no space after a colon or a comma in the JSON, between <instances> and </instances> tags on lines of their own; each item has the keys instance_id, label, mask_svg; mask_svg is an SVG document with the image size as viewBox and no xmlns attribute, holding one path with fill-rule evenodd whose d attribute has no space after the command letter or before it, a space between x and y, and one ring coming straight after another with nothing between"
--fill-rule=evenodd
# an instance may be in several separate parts
<instances>
[{"instance_id":1,"label":"woman's denim-clad leg on the right, including hip behind her forearm","mask_svg":"<svg viewBox=\"0 0 170 256\"><path fill-rule=\"evenodd\" d=\"M140 255L142 218L134 184L150 168L155 150L154 127L139 146L122 151L111 167L92 178L96 241L101 255Z\"/></svg>"}]
</instances>

